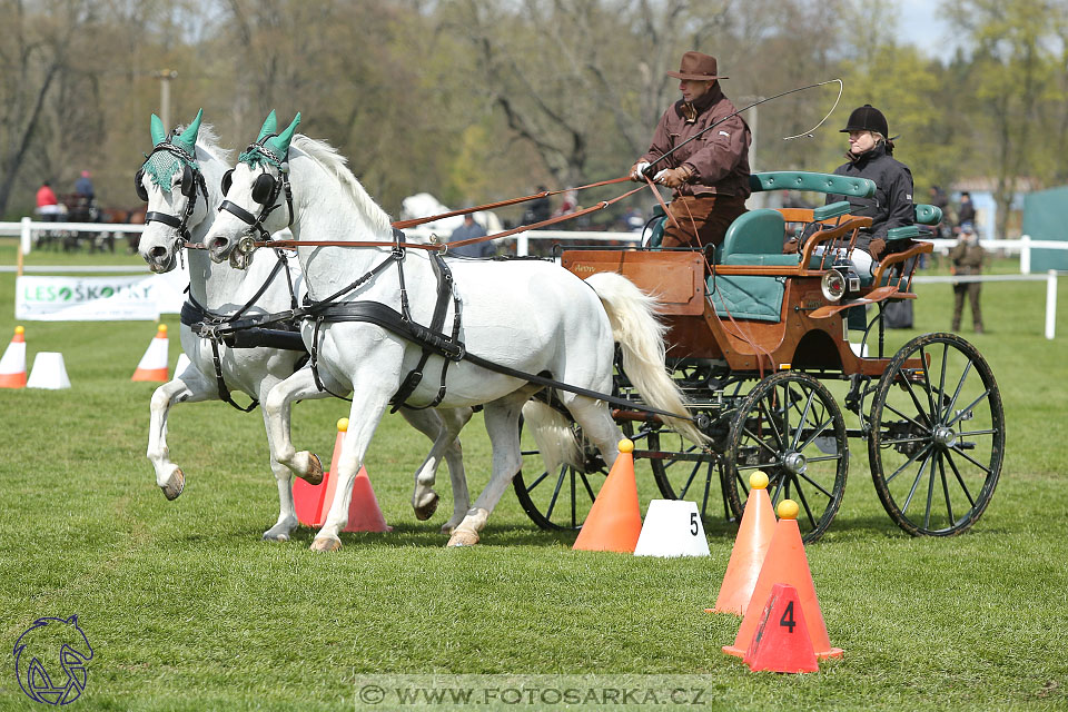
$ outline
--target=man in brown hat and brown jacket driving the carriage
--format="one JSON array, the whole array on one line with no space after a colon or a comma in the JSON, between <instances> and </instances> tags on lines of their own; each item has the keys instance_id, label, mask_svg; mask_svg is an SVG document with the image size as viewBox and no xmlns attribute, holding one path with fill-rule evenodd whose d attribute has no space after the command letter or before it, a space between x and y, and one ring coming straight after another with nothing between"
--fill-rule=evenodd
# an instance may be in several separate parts
<instances>
[{"instance_id":1,"label":"man in brown hat and brown jacket driving the carriage","mask_svg":"<svg viewBox=\"0 0 1068 712\"><path fill-rule=\"evenodd\" d=\"M720 88L719 80L726 77L716 73L714 57L686 52L679 71L668 76L680 80L682 98L660 118L649 150L631 168L631 178L644 180L642 174L650 164L722 121L653 167L653 180L673 190L668 209L679 224L665 224L662 245L719 245L734 218L745 212L753 137L740 116L731 116L735 108Z\"/></svg>"}]
</instances>

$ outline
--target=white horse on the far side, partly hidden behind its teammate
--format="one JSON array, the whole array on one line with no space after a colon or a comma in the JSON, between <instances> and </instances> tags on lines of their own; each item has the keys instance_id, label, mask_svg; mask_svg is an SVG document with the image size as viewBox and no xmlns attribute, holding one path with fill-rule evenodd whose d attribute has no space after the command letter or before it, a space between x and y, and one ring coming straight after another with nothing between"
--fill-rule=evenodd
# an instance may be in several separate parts
<instances>
[{"instance_id":1,"label":"white horse on the far side, partly hidden behind its teammate","mask_svg":"<svg viewBox=\"0 0 1068 712\"><path fill-rule=\"evenodd\" d=\"M148 201L148 221L139 243L139 253L152 271L161 274L172 269L181 245L180 229L189 230L192 241L202 240L222 200L220 182L230 168L229 151L220 149L209 126L200 126L201 113L180 134L168 138L162 122L155 115L151 121L154 151L137 175L139 195ZM195 158L195 162L187 160ZM188 170L187 170L188 167ZM199 178L202 177L202 180ZM158 181L158 182L157 182ZM195 198L196 196L196 198ZM229 265L216 265L204 250L188 250L190 304L198 304L217 315L234 315L249 305L246 315L284 312L291 308L291 299L303 296L303 277L299 265L290 260L281 270L276 269L275 255L265 253L250 261L247 269L234 269ZM287 276L285 269L291 268ZM289 279L293 279L290 291ZM263 291L260 293L260 289ZM156 469L156 483L168 500L181 494L185 475L170 461L167 446L167 418L177 403L221 399L217 380L215 354L209 339L192 333L182 319L180 336L182 349L190 366L175 379L160 386L152 394L151 423L149 426L148 458ZM240 390L263 402L275 385L293 375L298 362L306 356L301 350L260 346L256 348L230 348L218 345L219 367L225 388ZM340 388L333 380L327 386ZM319 394L325 396L326 393ZM313 396L315 397L315 396ZM434 448L416 473L412 504L416 517L429 518L437 508L438 495L434 491L435 475L442 457L448 464L453 486L453 515L442 527L449 533L459 524L468 506L467 483L464 474L463 453L456 433L469 419L469 409L402 411L404 417L419 432L433 439ZM266 421L266 415L264 416ZM270 431L267 431L268 441ZM270 461L278 484L279 514L273 527L264 532L265 540L287 541L297 526L294 511L290 473L274 457ZM313 468L305 478L315 484L323 477L322 468Z\"/></svg>"}]
</instances>

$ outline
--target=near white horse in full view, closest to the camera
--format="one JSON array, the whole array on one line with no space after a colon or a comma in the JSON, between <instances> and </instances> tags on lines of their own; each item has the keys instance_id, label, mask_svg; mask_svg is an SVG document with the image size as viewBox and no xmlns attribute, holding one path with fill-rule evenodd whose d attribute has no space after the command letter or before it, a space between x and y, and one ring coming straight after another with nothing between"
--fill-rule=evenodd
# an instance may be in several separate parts
<instances>
[{"instance_id":1,"label":"near white horse in full view, closest to the camera","mask_svg":"<svg viewBox=\"0 0 1068 712\"><path fill-rule=\"evenodd\" d=\"M230 257L250 229L276 230L286 225L298 240L392 243L388 216L370 199L345 161L329 146L304 136L294 138L300 119L278 137L250 146L234 170L229 200L205 238L212 259ZM287 191L291 188L291 208ZM263 233L260 231L263 235ZM400 309L406 299L412 319L431 323L438 280L425 250L407 249L403 259L389 247L301 247L297 249L313 300L337 295L340 303L378 303ZM398 267L399 265L399 267ZM547 374L565 384L607 393L612 388L614 338L624 352L624 372L646 403L685 417L682 397L664 367L662 327L653 316L654 300L619 275L601 274L585 283L547 261L451 261L455 295L462 303L458 339L467 353L527 374ZM403 280L400 275L403 268ZM355 280L355 281L354 281ZM352 287L352 288L348 288ZM592 288L591 288L592 287ZM363 308L363 307L358 307ZM452 324L449 305L445 324ZM392 328L395 325L392 325ZM312 548L340 547L353 481L375 428L405 375L419 362L423 348L364 320L327 320L316 329L305 322L305 344L318 350L319 373L353 388L349 427L342 447L339 487L326 523ZM614 338L613 338L614 336ZM434 355L411 400L431 404L439 395L443 357ZM473 364L453 363L445 376L441 407L485 404L485 423L493 446L492 477L449 545L478 542L478 532L500 501L522 459L518 417L523 404L542 386ZM284 414L294 399L315 393L307 370L286 379L267 396L275 458L307 473L314 455L297 452L288 441ZM620 431L603 400L560 392L560 398L610 465L619 454ZM673 425L701 436L689 421Z\"/></svg>"}]
</instances>

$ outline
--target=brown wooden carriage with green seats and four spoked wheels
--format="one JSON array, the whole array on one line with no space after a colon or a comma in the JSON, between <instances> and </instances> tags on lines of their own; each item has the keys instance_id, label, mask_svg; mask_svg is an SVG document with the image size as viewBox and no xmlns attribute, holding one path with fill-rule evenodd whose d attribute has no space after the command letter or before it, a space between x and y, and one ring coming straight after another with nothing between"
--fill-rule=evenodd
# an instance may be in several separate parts
<instances>
[{"instance_id":1,"label":"brown wooden carriage with green seats and four spoked wheels","mask_svg":"<svg viewBox=\"0 0 1068 712\"><path fill-rule=\"evenodd\" d=\"M758 174L751 185L874 191L870 180L810 172ZM916 299L912 273L932 245L917 239L916 226L897 228L888 236L891 254L858 270L849 258L871 219L848 211L848 201L751 210L709 256L661 249L654 229L641 249L573 249L562 263L580 277L622 274L661 303L669 364L709 443L689 443L637 408L617 408L615 417L664 496L696 501L710 522L721 512L735 518L749 475L761 469L773 502L798 501L804 537L815 541L841 504L852 438L864 441L894 522L910 534L957 534L982 514L1000 474L997 383L978 350L953 334L924 334L884 353L882 309ZM917 206L917 224L940 220L938 208ZM783 254L791 236L799 249ZM850 340L851 326L859 340ZM617 392L637 398L623 377ZM856 421L850 426L839 400ZM583 465L555 473L527 466L515 487L535 522L574 528L600 487L597 473L603 464L590 451Z\"/></svg>"}]
</instances>

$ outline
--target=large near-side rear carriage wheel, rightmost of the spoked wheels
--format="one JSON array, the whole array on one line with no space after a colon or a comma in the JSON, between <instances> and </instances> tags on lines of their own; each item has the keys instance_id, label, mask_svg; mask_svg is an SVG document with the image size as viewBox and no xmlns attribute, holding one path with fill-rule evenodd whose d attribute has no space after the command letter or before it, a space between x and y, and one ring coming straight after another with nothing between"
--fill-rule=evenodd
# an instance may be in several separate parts
<instances>
[{"instance_id":1,"label":"large near-side rear carriage wheel, rightmost of the spoked wheels","mask_svg":"<svg viewBox=\"0 0 1068 712\"><path fill-rule=\"evenodd\" d=\"M1005 411L975 346L955 334L906 344L879 379L870 424L876 492L902 530L950 536L976 523L1001 473Z\"/></svg>"}]
</instances>

